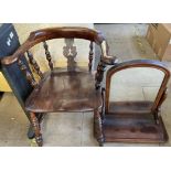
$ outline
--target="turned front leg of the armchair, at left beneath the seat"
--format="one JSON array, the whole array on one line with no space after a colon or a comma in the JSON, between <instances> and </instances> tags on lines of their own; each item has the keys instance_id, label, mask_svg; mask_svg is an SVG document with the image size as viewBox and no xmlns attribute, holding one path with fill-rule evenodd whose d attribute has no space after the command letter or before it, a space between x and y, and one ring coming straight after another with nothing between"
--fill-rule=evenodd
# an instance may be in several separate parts
<instances>
[{"instance_id":1,"label":"turned front leg of the armchair, at left beneath the seat","mask_svg":"<svg viewBox=\"0 0 171 171\"><path fill-rule=\"evenodd\" d=\"M35 140L39 147L43 146L41 126L34 113L31 113L31 121L35 133Z\"/></svg>"}]
</instances>

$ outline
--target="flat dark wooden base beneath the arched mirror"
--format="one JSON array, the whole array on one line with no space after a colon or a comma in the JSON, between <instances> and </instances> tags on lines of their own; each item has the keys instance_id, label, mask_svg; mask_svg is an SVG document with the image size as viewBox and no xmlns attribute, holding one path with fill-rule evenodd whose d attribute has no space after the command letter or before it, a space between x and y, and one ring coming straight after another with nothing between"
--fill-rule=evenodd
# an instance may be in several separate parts
<instances>
[{"instance_id":1,"label":"flat dark wooden base beneath the arched mirror","mask_svg":"<svg viewBox=\"0 0 171 171\"><path fill-rule=\"evenodd\" d=\"M105 142L165 142L168 133L162 118L156 124L152 114L106 115L103 124Z\"/></svg>"}]
</instances>

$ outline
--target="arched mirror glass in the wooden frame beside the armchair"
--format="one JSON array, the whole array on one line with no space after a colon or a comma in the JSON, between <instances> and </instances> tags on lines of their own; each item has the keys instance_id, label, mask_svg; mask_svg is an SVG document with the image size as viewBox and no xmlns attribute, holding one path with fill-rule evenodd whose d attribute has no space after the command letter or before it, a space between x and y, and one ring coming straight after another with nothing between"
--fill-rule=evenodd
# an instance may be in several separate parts
<instances>
[{"instance_id":1,"label":"arched mirror glass in the wooden frame beside the armchair","mask_svg":"<svg viewBox=\"0 0 171 171\"><path fill-rule=\"evenodd\" d=\"M109 107L114 103L154 101L164 73L152 67L131 67L111 76Z\"/></svg>"}]
</instances>

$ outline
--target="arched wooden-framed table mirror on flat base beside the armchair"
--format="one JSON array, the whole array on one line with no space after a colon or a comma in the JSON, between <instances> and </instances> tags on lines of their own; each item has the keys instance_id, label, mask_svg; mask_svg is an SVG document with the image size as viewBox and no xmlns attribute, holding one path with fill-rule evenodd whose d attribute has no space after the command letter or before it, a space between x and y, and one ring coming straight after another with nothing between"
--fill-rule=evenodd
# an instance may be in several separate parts
<instances>
[{"instance_id":1,"label":"arched wooden-framed table mirror on flat base beside the armchair","mask_svg":"<svg viewBox=\"0 0 171 171\"><path fill-rule=\"evenodd\" d=\"M111 90L113 86L117 83L117 74L121 72L129 73L130 68L150 68L152 71L160 71L163 75L162 82L160 82L160 88L154 101L149 100L111 100L111 96L118 94L116 88ZM146 78L150 74L143 72L142 75L138 75L140 78ZM136 73L130 72L136 81ZM165 131L162 118L160 116L160 107L167 97L167 83L170 77L169 70L159 61L150 60L135 60L116 64L109 68L106 73L106 87L101 90L103 107L100 110L100 117L96 118L94 122L95 137L103 146L104 142L165 142L168 140L168 133ZM129 77L126 77L128 79ZM138 78L139 79L139 78ZM150 77L150 82L152 78ZM158 79L158 77L154 77ZM124 79L120 81L124 83ZM121 84L120 84L121 86ZM131 85L127 84L131 89ZM111 95L111 92L114 93ZM129 96L126 92L126 97ZM127 97L129 98L129 97ZM139 96L140 98L140 96ZM99 120L98 120L99 119ZM98 120L98 121L97 121Z\"/></svg>"}]
</instances>

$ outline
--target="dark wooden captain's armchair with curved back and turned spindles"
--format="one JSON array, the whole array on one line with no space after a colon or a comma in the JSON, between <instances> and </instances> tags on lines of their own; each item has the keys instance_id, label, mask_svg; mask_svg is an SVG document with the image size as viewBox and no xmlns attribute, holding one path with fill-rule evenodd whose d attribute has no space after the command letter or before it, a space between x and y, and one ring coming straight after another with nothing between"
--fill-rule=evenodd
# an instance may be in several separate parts
<instances>
[{"instance_id":1,"label":"dark wooden captain's armchair with curved back and turned spindles","mask_svg":"<svg viewBox=\"0 0 171 171\"><path fill-rule=\"evenodd\" d=\"M67 68L55 68L49 51L47 40L65 39L66 46L63 47L63 54L67 58ZM89 44L89 63L88 70L84 71L77 67L74 57L76 56L76 47L73 46L73 39L83 39L90 41ZM93 43L100 46L101 56L96 75L92 74L93 63ZM38 43L43 43L50 71L42 73L40 66L34 60L30 49ZM40 77L36 83L33 74L28 70L21 61L23 54L28 54L30 64ZM104 70L106 65L114 65L116 57L108 55L108 46L103 34L87 28L50 28L34 31L28 40L18 49L12 56L3 57L1 63L10 67L17 63L26 81L32 85L33 90L25 99L25 110L30 114L31 122L35 132L35 140L39 146L43 145L40 119L45 113L56 111L89 111L98 118L100 98L100 82L103 81ZM13 71L14 72L14 71Z\"/></svg>"}]
</instances>

